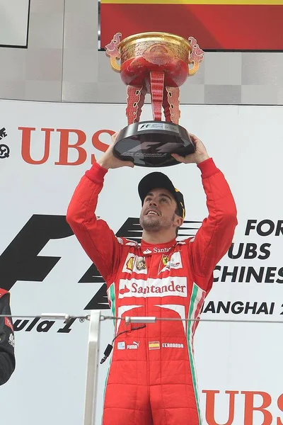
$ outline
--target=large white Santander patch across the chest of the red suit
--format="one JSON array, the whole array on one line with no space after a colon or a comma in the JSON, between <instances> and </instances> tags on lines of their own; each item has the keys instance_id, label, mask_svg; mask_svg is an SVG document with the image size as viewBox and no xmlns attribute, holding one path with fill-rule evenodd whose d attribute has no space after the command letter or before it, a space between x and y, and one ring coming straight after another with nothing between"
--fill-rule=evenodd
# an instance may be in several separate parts
<instances>
[{"instance_id":1,"label":"large white Santander patch across the chest of the red suit","mask_svg":"<svg viewBox=\"0 0 283 425\"><path fill-rule=\"evenodd\" d=\"M125 297L187 297L187 278L120 279L119 298Z\"/></svg>"}]
</instances>

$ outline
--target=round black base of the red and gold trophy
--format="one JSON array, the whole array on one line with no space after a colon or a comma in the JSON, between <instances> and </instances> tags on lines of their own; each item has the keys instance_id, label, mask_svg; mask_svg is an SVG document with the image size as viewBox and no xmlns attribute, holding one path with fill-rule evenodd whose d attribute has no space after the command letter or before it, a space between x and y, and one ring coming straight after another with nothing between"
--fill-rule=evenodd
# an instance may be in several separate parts
<instances>
[{"instance_id":1,"label":"round black base of the red and gold trophy","mask_svg":"<svg viewBox=\"0 0 283 425\"><path fill-rule=\"evenodd\" d=\"M195 152L187 130L165 121L141 121L123 128L113 147L115 157L137 166L180 164L171 154L185 157Z\"/></svg>"}]
</instances>

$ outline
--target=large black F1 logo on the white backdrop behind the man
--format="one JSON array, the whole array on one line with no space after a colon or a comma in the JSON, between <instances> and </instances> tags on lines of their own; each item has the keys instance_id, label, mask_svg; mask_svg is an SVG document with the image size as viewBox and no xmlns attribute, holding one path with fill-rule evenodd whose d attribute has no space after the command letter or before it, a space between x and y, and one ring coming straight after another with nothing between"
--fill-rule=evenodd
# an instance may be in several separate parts
<instances>
[{"instance_id":1,"label":"large black F1 logo on the white backdrop behind the man","mask_svg":"<svg viewBox=\"0 0 283 425\"><path fill-rule=\"evenodd\" d=\"M185 221L180 228L180 237L195 236L200 223ZM187 224L190 225L187 227ZM129 217L116 236L140 242L141 232L139 218ZM61 257L38 256L38 254L51 239L63 239L73 234L65 215L32 215L0 256L1 287L10 290L17 280L32 282L45 280ZM109 308L105 282L94 264L83 273L79 283L103 283L85 310Z\"/></svg>"}]
</instances>

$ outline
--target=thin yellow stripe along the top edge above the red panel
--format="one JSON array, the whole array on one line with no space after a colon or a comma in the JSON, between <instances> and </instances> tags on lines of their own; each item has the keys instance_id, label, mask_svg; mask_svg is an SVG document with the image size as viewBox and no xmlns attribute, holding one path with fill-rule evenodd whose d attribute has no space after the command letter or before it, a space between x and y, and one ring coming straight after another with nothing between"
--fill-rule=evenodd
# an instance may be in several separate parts
<instances>
[{"instance_id":1,"label":"thin yellow stripe along the top edge above the red panel","mask_svg":"<svg viewBox=\"0 0 283 425\"><path fill-rule=\"evenodd\" d=\"M278 6L283 5L283 0L100 0L104 4L223 4L232 6L234 4L242 6Z\"/></svg>"}]
</instances>

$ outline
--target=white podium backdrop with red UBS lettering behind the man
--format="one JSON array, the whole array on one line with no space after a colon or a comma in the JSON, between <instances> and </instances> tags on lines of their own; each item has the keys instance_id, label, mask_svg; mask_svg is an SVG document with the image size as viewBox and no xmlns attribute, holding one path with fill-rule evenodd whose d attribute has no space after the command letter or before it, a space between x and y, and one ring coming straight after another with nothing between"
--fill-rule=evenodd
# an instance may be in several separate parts
<instances>
[{"instance_id":1,"label":"white podium backdrop with red UBS lettering behind the man","mask_svg":"<svg viewBox=\"0 0 283 425\"><path fill-rule=\"evenodd\" d=\"M283 220L282 108L182 106L181 111L180 124L202 139L229 181L238 208L238 227L233 240L233 256L238 258L226 255L219 263L214 275L219 279L207 297L202 318L281 321L282 232L276 229L277 222ZM150 118L151 107L146 105L141 119ZM83 309L103 283L79 283L91 261L75 237L67 234L63 238L62 235L56 237L62 230L55 229L54 235L51 226L51 239L42 243L38 257L33 248L38 235L44 233L42 227L52 220L45 217L42 221L42 216L65 215L76 184L91 166L91 154L101 155L92 145L93 135L100 130L117 131L126 125L125 105L1 101L0 121L0 145L6 145L0 146L0 286L12 285L13 314L85 314L89 310ZM63 145L68 137L66 129L70 130L70 145L76 143L78 137L82 143L79 165L62 165L66 162L63 158ZM46 161L42 161L45 135L50 135L50 152L47 149ZM107 132L99 137L101 142L110 142ZM6 157L8 149L9 157ZM67 161L77 159L78 151L69 149ZM137 184L149 171L140 167L117 169L105 177L98 215L107 220L115 232L128 217L139 217ZM186 220L203 220L207 208L200 170L195 164L180 164L162 171L185 196ZM30 232L22 232L23 242L18 244L16 235L33 215L40 216L34 218L38 220L37 225L30 227ZM243 254L240 255L240 250L236 255L240 248ZM46 276L40 281L42 256L47 257L47 261L50 257L59 260L43 273ZM21 268L26 269L21 271ZM234 276L227 273L225 276L225 271ZM16 280L14 285L13 280ZM227 306L229 301L229 312L223 309L217 312L219 302ZM239 307L243 307L243 311ZM108 314L110 310L104 312ZM0 387L3 423L82 424L87 324L74 322L71 331L66 333L58 332L64 324L40 325L42 321L29 331L30 322L25 326L23 322L17 324L23 329L16 331L16 372ZM42 328L45 331L38 331ZM282 324L200 323L195 337L195 356L204 424L283 424L282 329ZM111 339L112 323L103 322L101 356ZM99 367L97 424L100 424L107 369L108 362ZM233 396L226 391L233 392Z\"/></svg>"}]
</instances>

